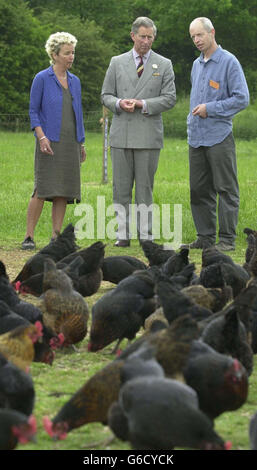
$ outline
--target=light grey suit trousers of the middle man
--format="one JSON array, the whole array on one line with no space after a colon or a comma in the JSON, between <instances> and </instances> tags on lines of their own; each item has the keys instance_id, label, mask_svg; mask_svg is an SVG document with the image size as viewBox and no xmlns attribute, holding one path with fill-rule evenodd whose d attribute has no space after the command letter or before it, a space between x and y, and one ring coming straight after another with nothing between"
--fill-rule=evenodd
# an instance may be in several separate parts
<instances>
[{"instance_id":1,"label":"light grey suit trousers of the middle man","mask_svg":"<svg viewBox=\"0 0 257 470\"><path fill-rule=\"evenodd\" d=\"M139 239L152 238L152 194L160 149L119 149L111 147L113 203L118 223L117 238L131 238L132 210L136 209ZM135 182L135 205L132 192Z\"/></svg>"}]
</instances>

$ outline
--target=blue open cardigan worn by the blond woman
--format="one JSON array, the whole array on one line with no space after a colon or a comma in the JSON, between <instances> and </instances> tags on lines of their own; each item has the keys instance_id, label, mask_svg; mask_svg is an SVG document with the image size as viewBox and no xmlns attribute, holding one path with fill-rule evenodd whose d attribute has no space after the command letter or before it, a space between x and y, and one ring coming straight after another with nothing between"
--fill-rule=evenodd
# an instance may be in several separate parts
<instances>
[{"instance_id":1,"label":"blue open cardigan worn by the blond woman","mask_svg":"<svg viewBox=\"0 0 257 470\"><path fill-rule=\"evenodd\" d=\"M85 129L80 80L70 72L67 72L67 76L76 118L77 141L81 143L85 140ZM29 116L32 130L41 126L50 141L59 142L62 124L62 87L52 66L39 72L33 80Z\"/></svg>"}]
</instances>

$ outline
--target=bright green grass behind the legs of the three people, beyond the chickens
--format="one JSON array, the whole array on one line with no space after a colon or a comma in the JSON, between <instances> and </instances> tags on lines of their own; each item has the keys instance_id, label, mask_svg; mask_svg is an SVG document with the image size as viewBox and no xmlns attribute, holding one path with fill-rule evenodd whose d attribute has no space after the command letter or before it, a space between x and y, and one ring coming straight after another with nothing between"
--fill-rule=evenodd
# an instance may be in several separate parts
<instances>
[{"instance_id":1,"label":"bright green grass behind the legs of the three people, beyond the chickens","mask_svg":"<svg viewBox=\"0 0 257 470\"><path fill-rule=\"evenodd\" d=\"M34 138L30 133L0 133L1 187L0 187L0 246L19 247L25 234L26 212L33 191ZM237 141L238 174L241 205L238 223L237 253L245 248L243 229L256 224L256 140ZM105 197L106 208L112 204L112 171L108 159L108 183L102 184L102 136L87 136L87 160L82 165L82 203L92 206L95 211L98 196ZM155 177L154 203L160 208L170 204L171 232L174 229L174 205L182 205L184 243L195 238L189 204L188 150L185 140L165 139L159 167ZM65 224L76 223L85 214L75 215L76 206L69 205ZM77 210L83 210L81 205ZM95 216L94 238L97 237ZM110 216L106 225L113 219ZM160 232L162 240L162 231ZM51 204L45 203L43 213L36 228L35 239L39 246L48 242L51 236ZM102 238L105 238L103 235ZM172 241L172 240L170 240ZM88 240L83 241L87 243Z\"/></svg>"}]
</instances>

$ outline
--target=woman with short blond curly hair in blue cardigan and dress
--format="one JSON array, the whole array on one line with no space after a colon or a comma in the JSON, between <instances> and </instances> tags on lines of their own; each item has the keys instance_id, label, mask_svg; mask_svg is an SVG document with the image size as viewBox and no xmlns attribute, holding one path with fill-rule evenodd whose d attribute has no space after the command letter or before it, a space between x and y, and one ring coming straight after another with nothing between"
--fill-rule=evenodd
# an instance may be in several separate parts
<instances>
[{"instance_id":1,"label":"woman with short blond curly hair in blue cardigan and dress","mask_svg":"<svg viewBox=\"0 0 257 470\"><path fill-rule=\"evenodd\" d=\"M22 249L36 247L34 230L44 202L52 201L52 239L60 232L67 203L80 202L80 163L85 161L81 85L72 67L77 39L52 34L45 45L51 66L32 83L30 121L35 132L35 185Z\"/></svg>"}]
</instances>

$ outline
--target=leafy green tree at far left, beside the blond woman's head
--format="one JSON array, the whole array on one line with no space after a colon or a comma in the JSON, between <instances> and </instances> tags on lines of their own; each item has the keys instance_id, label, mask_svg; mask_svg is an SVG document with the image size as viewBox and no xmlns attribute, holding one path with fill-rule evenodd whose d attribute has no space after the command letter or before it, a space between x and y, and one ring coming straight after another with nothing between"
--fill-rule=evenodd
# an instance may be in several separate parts
<instances>
[{"instance_id":1,"label":"leafy green tree at far left, beside the blond woman's head","mask_svg":"<svg viewBox=\"0 0 257 470\"><path fill-rule=\"evenodd\" d=\"M0 113L28 110L33 72L42 63L44 31L22 0L0 0Z\"/></svg>"}]
</instances>

